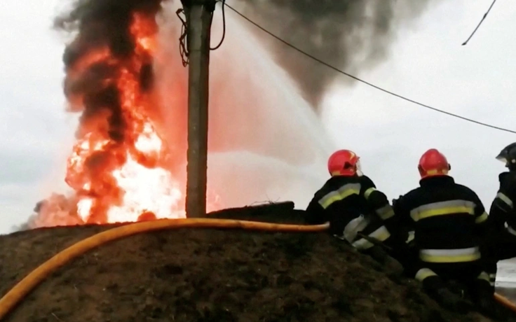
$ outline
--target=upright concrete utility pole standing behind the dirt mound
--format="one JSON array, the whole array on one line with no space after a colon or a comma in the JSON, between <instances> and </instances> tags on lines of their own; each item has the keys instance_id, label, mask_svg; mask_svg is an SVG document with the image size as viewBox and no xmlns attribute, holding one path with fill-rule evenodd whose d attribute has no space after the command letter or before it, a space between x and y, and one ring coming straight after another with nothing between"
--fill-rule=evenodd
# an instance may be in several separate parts
<instances>
[{"instance_id":1,"label":"upright concrete utility pole standing behind the dirt mound","mask_svg":"<svg viewBox=\"0 0 516 322\"><path fill-rule=\"evenodd\" d=\"M215 0L182 0L189 52L186 217L206 214L210 29Z\"/></svg>"}]
</instances>

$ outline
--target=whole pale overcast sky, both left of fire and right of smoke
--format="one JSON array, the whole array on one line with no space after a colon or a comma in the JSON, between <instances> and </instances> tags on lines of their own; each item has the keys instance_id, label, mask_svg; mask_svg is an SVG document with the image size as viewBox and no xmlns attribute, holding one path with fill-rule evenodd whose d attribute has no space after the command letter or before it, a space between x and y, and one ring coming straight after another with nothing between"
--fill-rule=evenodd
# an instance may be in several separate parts
<instances>
[{"instance_id":1,"label":"whole pale overcast sky, both left of fire and right of smoke","mask_svg":"<svg viewBox=\"0 0 516 322\"><path fill-rule=\"evenodd\" d=\"M0 1L0 233L25 221L50 193L42 182L62 182L62 174L51 172L73 139L74 117L64 113L61 87L63 46L50 29L57 2ZM473 40L461 46L491 0L443 2L412 29L400 31L390 58L358 76L516 130L516 7L498 1ZM504 169L494 157L516 141L516 134L435 113L362 84L343 88L337 81L326 104L322 120L332 139L362 156L365 173L390 199L418 184L419 156L439 148L456 180L489 207Z\"/></svg>"}]
</instances>

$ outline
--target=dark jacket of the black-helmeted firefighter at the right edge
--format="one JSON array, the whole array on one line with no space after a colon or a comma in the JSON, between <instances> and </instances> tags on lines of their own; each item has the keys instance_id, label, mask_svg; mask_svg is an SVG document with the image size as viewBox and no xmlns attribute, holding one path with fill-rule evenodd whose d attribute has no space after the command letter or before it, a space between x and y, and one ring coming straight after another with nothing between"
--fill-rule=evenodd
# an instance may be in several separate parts
<instances>
[{"instance_id":1,"label":"dark jacket of the black-helmeted firefighter at the right edge","mask_svg":"<svg viewBox=\"0 0 516 322\"><path fill-rule=\"evenodd\" d=\"M516 235L516 172L503 172L498 176L500 188L491 204L489 219L496 230L505 229ZM516 237L516 236L515 236Z\"/></svg>"}]
</instances>

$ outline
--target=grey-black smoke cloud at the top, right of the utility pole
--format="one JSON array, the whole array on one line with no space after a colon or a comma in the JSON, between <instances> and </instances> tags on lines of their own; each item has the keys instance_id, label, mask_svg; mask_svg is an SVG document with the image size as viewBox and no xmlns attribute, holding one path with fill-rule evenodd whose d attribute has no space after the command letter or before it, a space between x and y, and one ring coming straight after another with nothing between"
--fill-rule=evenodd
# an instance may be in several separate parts
<instances>
[{"instance_id":1,"label":"grey-black smoke cloud at the top, right of the utility pole","mask_svg":"<svg viewBox=\"0 0 516 322\"><path fill-rule=\"evenodd\" d=\"M400 22L419 17L440 0L242 1L247 3L245 15L259 25L332 66L358 73L386 58ZM256 33L269 41L277 62L316 109L334 78L344 78L262 31Z\"/></svg>"}]
</instances>

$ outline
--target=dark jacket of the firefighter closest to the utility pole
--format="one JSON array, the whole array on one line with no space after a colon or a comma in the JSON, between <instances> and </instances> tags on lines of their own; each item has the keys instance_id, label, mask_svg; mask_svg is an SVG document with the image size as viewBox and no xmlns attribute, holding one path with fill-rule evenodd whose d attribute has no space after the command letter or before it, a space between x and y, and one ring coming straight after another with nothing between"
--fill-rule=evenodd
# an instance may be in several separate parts
<instances>
[{"instance_id":1,"label":"dark jacket of the firefighter closest to the utility pole","mask_svg":"<svg viewBox=\"0 0 516 322\"><path fill-rule=\"evenodd\" d=\"M350 221L367 214L379 216L386 226L394 217L386 195L376 190L369 177L332 176L308 204L306 222L317 225L330 221L330 229L341 234Z\"/></svg>"}]
</instances>

